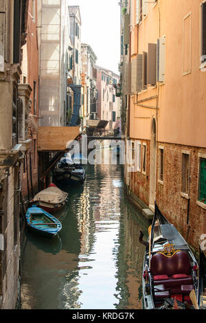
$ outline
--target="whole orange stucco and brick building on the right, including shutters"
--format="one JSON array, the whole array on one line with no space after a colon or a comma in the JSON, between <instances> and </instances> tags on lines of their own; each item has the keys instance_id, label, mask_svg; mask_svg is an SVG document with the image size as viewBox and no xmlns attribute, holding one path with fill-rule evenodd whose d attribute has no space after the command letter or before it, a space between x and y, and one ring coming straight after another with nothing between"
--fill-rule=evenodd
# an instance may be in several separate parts
<instances>
[{"instance_id":1,"label":"whole orange stucco and brick building on the right, including shutters","mask_svg":"<svg viewBox=\"0 0 206 323\"><path fill-rule=\"evenodd\" d=\"M151 210L156 199L196 249L206 232L205 8L201 0L131 0L122 12L122 95L136 165L126 184Z\"/></svg>"}]
</instances>

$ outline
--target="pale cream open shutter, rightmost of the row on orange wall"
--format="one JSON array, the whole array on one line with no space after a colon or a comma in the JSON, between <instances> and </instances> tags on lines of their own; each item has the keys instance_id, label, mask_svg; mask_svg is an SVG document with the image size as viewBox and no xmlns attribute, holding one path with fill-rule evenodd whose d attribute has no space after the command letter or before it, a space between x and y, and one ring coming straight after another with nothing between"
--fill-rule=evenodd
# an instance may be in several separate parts
<instances>
[{"instance_id":1,"label":"pale cream open shutter, rightmost of the row on orange wall","mask_svg":"<svg viewBox=\"0 0 206 323\"><path fill-rule=\"evenodd\" d=\"M157 39L157 80L165 82L165 38Z\"/></svg>"}]
</instances>

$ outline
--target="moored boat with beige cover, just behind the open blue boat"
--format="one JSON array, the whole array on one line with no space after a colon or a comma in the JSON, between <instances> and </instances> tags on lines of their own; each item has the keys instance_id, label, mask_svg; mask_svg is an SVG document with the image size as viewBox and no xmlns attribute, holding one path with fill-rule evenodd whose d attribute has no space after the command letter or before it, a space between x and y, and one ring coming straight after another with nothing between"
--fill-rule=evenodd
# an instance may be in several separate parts
<instances>
[{"instance_id":1,"label":"moored boat with beige cover, just behind the open blue boat","mask_svg":"<svg viewBox=\"0 0 206 323\"><path fill-rule=\"evenodd\" d=\"M63 192L60 188L56 187L54 183L50 184L45 190L41 190L32 199L39 208L53 213L60 210L67 202L68 193Z\"/></svg>"}]
</instances>

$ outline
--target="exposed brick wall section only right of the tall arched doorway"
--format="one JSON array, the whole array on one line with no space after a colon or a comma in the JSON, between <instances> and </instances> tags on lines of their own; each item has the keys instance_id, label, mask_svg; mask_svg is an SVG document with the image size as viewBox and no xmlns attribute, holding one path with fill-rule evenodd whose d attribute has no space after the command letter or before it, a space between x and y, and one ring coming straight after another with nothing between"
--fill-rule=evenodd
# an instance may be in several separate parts
<instances>
[{"instance_id":1,"label":"exposed brick wall section only right of the tall arched doorway","mask_svg":"<svg viewBox=\"0 0 206 323\"><path fill-rule=\"evenodd\" d=\"M163 146L164 150L164 167L163 183L159 181L157 171L157 204L167 219L176 226L176 229L181 232L184 238L187 238L187 242L197 249L201 234L206 233L206 210L196 203L198 200L198 153L206 154L206 149L158 143L157 170L159 169L159 145ZM181 194L182 153L185 151L190 154L188 225L187 208L189 200L186 195Z\"/></svg>"}]
</instances>

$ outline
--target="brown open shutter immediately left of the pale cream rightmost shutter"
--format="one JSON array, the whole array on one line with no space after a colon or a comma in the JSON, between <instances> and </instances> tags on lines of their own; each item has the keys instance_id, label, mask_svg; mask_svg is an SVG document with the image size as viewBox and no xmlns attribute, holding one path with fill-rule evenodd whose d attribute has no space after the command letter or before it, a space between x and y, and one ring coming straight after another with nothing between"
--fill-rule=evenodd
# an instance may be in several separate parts
<instances>
[{"instance_id":1,"label":"brown open shutter immediately left of the pale cream rightmost shutter","mask_svg":"<svg viewBox=\"0 0 206 323\"><path fill-rule=\"evenodd\" d=\"M157 67L157 44L148 44L148 75L147 82L150 85L156 84Z\"/></svg>"}]
</instances>

